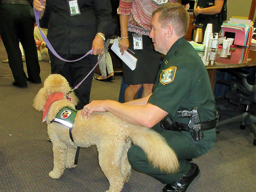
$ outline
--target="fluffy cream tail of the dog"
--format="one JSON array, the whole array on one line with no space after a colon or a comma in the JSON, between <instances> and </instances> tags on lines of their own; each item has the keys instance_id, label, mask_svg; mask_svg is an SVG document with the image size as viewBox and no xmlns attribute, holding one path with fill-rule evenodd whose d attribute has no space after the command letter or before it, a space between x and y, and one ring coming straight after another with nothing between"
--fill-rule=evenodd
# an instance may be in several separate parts
<instances>
[{"instance_id":1,"label":"fluffy cream tail of the dog","mask_svg":"<svg viewBox=\"0 0 256 192\"><path fill-rule=\"evenodd\" d=\"M166 173L175 173L179 168L178 158L164 137L154 130L134 126L130 129L133 143L142 148L148 161Z\"/></svg>"}]
</instances>

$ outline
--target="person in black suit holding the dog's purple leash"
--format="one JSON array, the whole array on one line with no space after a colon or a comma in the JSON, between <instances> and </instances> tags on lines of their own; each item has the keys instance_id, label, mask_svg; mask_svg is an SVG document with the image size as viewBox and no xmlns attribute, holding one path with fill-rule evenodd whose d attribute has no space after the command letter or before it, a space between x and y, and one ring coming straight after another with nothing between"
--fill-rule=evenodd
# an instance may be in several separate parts
<instances>
[{"instance_id":1,"label":"person in black suit holding the dog's purple leash","mask_svg":"<svg viewBox=\"0 0 256 192\"><path fill-rule=\"evenodd\" d=\"M41 22L49 22L47 38L61 57L74 60L93 49L93 55L75 62L62 61L49 52L51 73L61 74L74 88L92 70L96 55L104 53L104 40L115 31L111 2L42 0L41 5L39 0L34 0L34 8L41 11ZM77 110L90 101L93 75L94 72L75 90L79 99Z\"/></svg>"}]
</instances>

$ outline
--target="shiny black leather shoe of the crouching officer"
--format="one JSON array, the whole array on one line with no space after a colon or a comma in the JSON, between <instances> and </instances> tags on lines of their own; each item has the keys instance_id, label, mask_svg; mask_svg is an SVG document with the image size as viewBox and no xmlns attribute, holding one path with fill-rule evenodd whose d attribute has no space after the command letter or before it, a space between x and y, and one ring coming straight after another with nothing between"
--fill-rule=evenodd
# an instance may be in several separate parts
<instances>
[{"instance_id":1,"label":"shiny black leather shoe of the crouching officer","mask_svg":"<svg viewBox=\"0 0 256 192\"><path fill-rule=\"evenodd\" d=\"M197 164L191 163L191 168L178 181L165 185L163 192L185 192L200 178Z\"/></svg>"}]
</instances>

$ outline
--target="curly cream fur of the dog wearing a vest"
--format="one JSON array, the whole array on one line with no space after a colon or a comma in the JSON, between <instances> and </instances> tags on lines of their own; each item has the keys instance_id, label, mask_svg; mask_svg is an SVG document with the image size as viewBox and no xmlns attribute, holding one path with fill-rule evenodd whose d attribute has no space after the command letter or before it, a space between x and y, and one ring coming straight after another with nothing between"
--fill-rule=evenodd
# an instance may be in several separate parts
<instances>
[{"instance_id":1,"label":"curly cream fur of the dog wearing a vest","mask_svg":"<svg viewBox=\"0 0 256 192\"><path fill-rule=\"evenodd\" d=\"M67 93L70 90L65 77L58 74L49 75L44 82L44 87L37 93L33 106L36 110L43 111L50 94ZM72 130L73 143L67 127L63 128L63 125L59 123L51 123L63 107L75 108L78 99L74 92L69 96L71 101L62 98L53 102L46 119L54 155L54 167L49 173L51 178L58 179L65 168L76 166L74 159L78 146L96 145L99 165L110 183L109 190L106 192L120 192L131 174L131 166L127 159L127 151L131 142L143 149L148 160L155 167L159 167L166 173L173 173L178 170L177 156L160 134L147 127L129 124L110 112L94 112L87 119L81 116L81 110L78 111Z\"/></svg>"}]
</instances>

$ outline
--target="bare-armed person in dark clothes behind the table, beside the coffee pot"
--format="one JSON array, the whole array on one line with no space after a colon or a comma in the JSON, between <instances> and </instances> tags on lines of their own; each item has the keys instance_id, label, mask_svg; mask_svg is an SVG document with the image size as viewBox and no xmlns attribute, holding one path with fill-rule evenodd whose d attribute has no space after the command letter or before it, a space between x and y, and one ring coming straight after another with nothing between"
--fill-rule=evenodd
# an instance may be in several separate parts
<instances>
[{"instance_id":1,"label":"bare-armed person in dark clothes behind the table, beside the coffee pot","mask_svg":"<svg viewBox=\"0 0 256 192\"><path fill-rule=\"evenodd\" d=\"M203 34L207 24L212 24L212 32L219 33L221 25L227 19L227 0L198 0L194 10L196 24L203 24Z\"/></svg>"}]
</instances>

